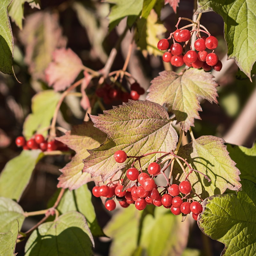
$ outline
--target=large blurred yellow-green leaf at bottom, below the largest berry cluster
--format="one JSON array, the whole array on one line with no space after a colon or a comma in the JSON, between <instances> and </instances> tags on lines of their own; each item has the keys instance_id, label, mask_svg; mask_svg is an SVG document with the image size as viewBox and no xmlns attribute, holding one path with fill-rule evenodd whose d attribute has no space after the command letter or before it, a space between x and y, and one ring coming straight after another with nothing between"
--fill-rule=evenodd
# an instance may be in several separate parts
<instances>
[{"instance_id":1,"label":"large blurred yellow-green leaf at bottom, below the largest berry cluster","mask_svg":"<svg viewBox=\"0 0 256 256\"><path fill-rule=\"evenodd\" d=\"M189 222L181 222L164 207L156 207L155 216L145 211L147 208L140 212L129 207L108 223L104 231L113 239L110 256L181 255L187 244Z\"/></svg>"}]
</instances>

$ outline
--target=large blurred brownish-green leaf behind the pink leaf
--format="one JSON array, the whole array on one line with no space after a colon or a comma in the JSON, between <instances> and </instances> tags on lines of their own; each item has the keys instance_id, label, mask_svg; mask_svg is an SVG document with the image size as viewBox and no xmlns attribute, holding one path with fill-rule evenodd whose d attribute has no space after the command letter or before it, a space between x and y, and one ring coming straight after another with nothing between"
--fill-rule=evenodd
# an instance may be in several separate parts
<instances>
[{"instance_id":1,"label":"large blurred brownish-green leaf behind the pink leaf","mask_svg":"<svg viewBox=\"0 0 256 256\"><path fill-rule=\"evenodd\" d=\"M56 13L48 11L35 12L26 17L20 39L25 46L25 62L33 79L44 80L44 70L52 61L52 52L66 47L67 40L62 36L58 20Z\"/></svg>"}]
</instances>

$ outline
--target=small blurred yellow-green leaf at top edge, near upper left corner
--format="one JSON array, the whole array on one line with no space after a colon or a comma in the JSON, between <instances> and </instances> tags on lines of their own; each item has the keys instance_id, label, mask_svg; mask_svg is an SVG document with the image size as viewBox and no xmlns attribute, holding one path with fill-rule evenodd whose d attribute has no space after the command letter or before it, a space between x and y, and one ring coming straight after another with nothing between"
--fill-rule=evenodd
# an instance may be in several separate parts
<instances>
[{"instance_id":1,"label":"small blurred yellow-green leaf at top edge, near upper left corner","mask_svg":"<svg viewBox=\"0 0 256 256\"><path fill-rule=\"evenodd\" d=\"M12 18L12 21L14 21L20 29L22 29L22 20L24 19L23 12L25 2L29 2L29 0L12 0L12 3L8 7L8 13ZM29 4L31 7L33 6L40 9L37 0L31 1Z\"/></svg>"}]
</instances>

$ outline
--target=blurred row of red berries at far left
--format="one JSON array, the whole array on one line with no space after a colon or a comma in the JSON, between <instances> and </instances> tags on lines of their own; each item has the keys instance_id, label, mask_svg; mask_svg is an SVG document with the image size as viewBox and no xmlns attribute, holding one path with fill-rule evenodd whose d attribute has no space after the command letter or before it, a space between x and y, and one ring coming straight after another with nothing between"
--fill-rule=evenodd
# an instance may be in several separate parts
<instances>
[{"instance_id":1,"label":"blurred row of red berries at far left","mask_svg":"<svg viewBox=\"0 0 256 256\"><path fill-rule=\"evenodd\" d=\"M33 138L26 140L23 136L16 138L15 143L17 147L22 147L24 150L41 149L44 151L68 151L69 148L64 143L58 140L47 142L42 134L36 134Z\"/></svg>"}]
</instances>

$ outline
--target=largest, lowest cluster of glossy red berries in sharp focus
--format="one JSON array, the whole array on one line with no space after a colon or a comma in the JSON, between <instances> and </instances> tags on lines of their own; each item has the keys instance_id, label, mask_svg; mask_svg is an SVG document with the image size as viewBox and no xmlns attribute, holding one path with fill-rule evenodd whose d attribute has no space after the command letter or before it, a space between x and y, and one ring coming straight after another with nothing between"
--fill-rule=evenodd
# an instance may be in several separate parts
<instances>
[{"instance_id":1,"label":"largest, lowest cluster of glossy red berries in sharp focus","mask_svg":"<svg viewBox=\"0 0 256 256\"><path fill-rule=\"evenodd\" d=\"M117 163L123 163L127 159L127 155L123 150L118 150L114 154L114 158ZM191 184L187 180L180 182L180 185L172 184L166 187L164 191L158 191L158 186L154 181L154 176L159 174L161 167L156 162L148 165L148 173L139 172L138 169L131 167L127 170L126 176L129 180L136 181L136 185L131 188L127 188L123 191L123 185L121 183L107 186L95 186L92 189L92 194L96 197L107 197L105 207L108 211L112 211L116 208L116 202L126 208L130 204L134 204L137 210L144 210L147 204L154 204L155 206L164 206L169 208L174 215L180 213L189 214L192 212L192 216L197 220L198 214L202 212L202 205L199 202L193 200L183 202L181 194L187 195L191 192ZM150 176L151 175L151 176ZM122 181L122 180L120 180Z\"/></svg>"}]
</instances>

